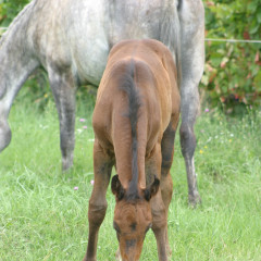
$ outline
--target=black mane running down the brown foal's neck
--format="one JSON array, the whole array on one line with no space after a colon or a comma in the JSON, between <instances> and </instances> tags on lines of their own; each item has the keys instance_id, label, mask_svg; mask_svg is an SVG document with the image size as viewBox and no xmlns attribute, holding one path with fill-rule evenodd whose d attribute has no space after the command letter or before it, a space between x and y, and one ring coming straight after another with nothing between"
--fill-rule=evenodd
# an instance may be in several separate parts
<instances>
[{"instance_id":1,"label":"black mane running down the brown foal's neck","mask_svg":"<svg viewBox=\"0 0 261 261\"><path fill-rule=\"evenodd\" d=\"M132 181L126 194L127 200L137 199L138 196L138 139L137 139L137 122L138 111L141 107L139 91L134 80L135 62L134 60L127 64L126 72L120 78L120 88L126 92L128 99L128 111L125 114L130 121L132 128Z\"/></svg>"}]
</instances>

